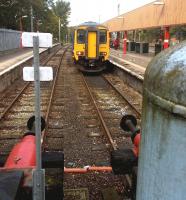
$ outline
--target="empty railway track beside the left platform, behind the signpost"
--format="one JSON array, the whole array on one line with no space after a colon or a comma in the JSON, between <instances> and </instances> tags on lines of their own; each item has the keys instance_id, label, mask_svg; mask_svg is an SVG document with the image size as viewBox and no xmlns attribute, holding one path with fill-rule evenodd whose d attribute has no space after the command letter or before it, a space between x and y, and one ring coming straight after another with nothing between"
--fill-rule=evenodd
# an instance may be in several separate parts
<instances>
[{"instance_id":1,"label":"empty railway track beside the left platform, behind the signpost","mask_svg":"<svg viewBox=\"0 0 186 200\"><path fill-rule=\"evenodd\" d=\"M55 72L56 66L60 65L63 53L64 50L59 50L42 60L41 63L52 66ZM52 83L41 83L41 113L43 116L47 111L51 88ZM26 121L34 114L34 84L30 82L25 84L21 80L16 81L15 86L4 93L1 102L0 155L7 156L13 145L26 131Z\"/></svg>"}]
</instances>

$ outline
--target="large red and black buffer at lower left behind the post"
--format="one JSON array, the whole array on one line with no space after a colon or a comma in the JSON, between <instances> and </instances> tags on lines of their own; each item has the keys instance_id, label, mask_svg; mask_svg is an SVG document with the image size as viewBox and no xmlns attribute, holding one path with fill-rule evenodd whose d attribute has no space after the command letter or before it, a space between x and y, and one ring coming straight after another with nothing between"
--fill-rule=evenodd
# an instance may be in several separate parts
<instances>
[{"instance_id":1,"label":"large red and black buffer at lower left behind the post","mask_svg":"<svg viewBox=\"0 0 186 200\"><path fill-rule=\"evenodd\" d=\"M30 195L33 187L33 170L36 168L35 117L27 122L28 132L15 144L6 161L1 160L0 199L17 200L20 191ZM41 129L45 128L44 119ZM64 171L63 152L42 152L42 168L60 168ZM63 172L62 172L63 173ZM27 197L25 197L27 199ZM20 199L19 199L20 200Z\"/></svg>"}]
</instances>

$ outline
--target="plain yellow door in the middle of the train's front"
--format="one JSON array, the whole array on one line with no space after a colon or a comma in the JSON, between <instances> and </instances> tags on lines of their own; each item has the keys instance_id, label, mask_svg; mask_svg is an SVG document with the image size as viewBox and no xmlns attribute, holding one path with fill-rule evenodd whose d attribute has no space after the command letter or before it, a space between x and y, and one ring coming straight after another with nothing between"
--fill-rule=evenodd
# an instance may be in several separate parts
<instances>
[{"instance_id":1,"label":"plain yellow door in the middle of the train's front","mask_svg":"<svg viewBox=\"0 0 186 200\"><path fill-rule=\"evenodd\" d=\"M88 58L94 59L97 56L97 32L88 32Z\"/></svg>"}]
</instances>

